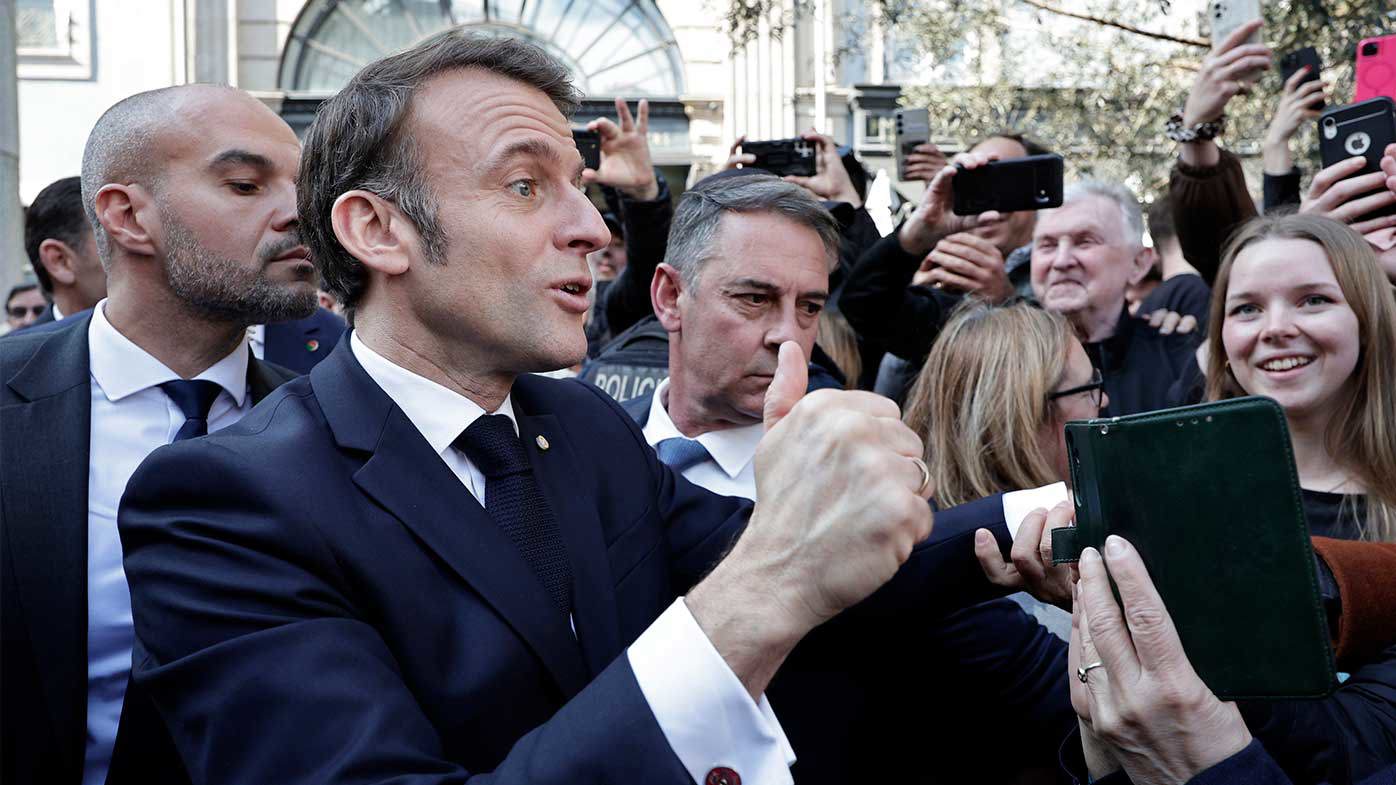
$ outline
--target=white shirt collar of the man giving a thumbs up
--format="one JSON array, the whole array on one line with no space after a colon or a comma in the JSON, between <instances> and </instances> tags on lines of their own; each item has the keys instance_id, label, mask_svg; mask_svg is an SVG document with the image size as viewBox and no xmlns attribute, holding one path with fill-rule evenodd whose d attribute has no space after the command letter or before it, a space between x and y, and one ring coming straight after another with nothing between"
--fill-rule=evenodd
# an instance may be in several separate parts
<instances>
[{"instance_id":1,"label":"white shirt collar of the man giving a thumbs up","mask_svg":"<svg viewBox=\"0 0 1396 785\"><path fill-rule=\"evenodd\" d=\"M461 436L461 432L486 413L479 404L465 395L412 373L374 352L359 338L357 330L349 334L349 348L363 370L378 387L383 387L383 391L392 398L402 413L408 415L408 419L422 432L437 455L445 453L447 447ZM510 402L510 398L511 395L505 395L504 402L494 413L510 418L510 422L514 423L514 433L518 434L519 423L514 416L514 404Z\"/></svg>"}]
</instances>

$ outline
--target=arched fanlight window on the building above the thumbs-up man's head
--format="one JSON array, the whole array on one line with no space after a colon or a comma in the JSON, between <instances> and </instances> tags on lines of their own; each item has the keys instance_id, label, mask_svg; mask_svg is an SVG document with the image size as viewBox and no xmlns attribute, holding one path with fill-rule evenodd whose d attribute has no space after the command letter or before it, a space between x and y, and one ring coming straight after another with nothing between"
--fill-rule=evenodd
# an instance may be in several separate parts
<instances>
[{"instance_id":1,"label":"arched fanlight window on the building above the thumbs-up man's head","mask_svg":"<svg viewBox=\"0 0 1396 785\"><path fill-rule=\"evenodd\" d=\"M586 96L684 91L678 46L653 0L310 0L286 42L281 87L332 94L367 63L454 27L537 43Z\"/></svg>"}]
</instances>

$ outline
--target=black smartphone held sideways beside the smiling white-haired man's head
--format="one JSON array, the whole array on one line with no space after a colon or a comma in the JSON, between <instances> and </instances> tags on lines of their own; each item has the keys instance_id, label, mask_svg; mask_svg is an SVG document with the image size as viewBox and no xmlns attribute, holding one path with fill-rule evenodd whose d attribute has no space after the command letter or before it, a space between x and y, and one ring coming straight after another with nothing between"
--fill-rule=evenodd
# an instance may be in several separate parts
<instances>
[{"instance_id":1,"label":"black smartphone held sideways beside the smiling white-haired man's head","mask_svg":"<svg viewBox=\"0 0 1396 785\"><path fill-rule=\"evenodd\" d=\"M1061 207L1065 163L1057 154L991 161L955 173L955 215Z\"/></svg>"}]
</instances>

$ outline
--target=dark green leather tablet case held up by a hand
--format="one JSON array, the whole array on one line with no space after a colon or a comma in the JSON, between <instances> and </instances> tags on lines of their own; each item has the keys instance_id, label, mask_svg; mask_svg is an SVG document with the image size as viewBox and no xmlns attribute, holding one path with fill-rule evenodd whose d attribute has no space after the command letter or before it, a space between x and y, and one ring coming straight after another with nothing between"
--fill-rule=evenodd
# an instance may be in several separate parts
<instances>
[{"instance_id":1,"label":"dark green leather tablet case held up by a hand","mask_svg":"<svg viewBox=\"0 0 1396 785\"><path fill-rule=\"evenodd\" d=\"M1337 679L1284 412L1234 398L1067 423L1076 525L1054 562L1128 539L1188 659L1223 700L1315 698Z\"/></svg>"}]
</instances>

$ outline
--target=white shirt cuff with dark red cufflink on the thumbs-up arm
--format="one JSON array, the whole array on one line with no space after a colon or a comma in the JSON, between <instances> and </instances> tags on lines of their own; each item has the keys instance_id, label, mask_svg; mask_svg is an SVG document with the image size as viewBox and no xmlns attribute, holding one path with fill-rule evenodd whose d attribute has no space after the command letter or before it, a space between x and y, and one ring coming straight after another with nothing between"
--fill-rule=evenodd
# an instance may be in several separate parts
<instances>
[{"instance_id":1,"label":"white shirt cuff with dark red cufflink on the thumbs-up arm","mask_svg":"<svg viewBox=\"0 0 1396 785\"><path fill-rule=\"evenodd\" d=\"M702 785L730 768L744 785L789 784L794 750L762 694L752 701L683 598L674 601L627 651L649 710L669 747Z\"/></svg>"}]
</instances>

